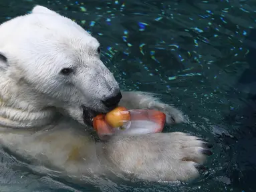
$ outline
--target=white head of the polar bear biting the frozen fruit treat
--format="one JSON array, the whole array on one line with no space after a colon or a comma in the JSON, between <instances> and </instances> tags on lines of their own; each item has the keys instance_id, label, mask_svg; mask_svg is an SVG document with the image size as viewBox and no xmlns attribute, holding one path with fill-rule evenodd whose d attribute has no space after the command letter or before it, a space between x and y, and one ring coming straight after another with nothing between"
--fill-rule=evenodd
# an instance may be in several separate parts
<instances>
[{"instance_id":1,"label":"white head of the polar bear biting the frozen fruit treat","mask_svg":"<svg viewBox=\"0 0 256 192\"><path fill-rule=\"evenodd\" d=\"M64 109L81 123L118 105L120 88L100 60L100 43L71 19L36 6L0 25L0 34L1 74L27 100Z\"/></svg>"}]
</instances>

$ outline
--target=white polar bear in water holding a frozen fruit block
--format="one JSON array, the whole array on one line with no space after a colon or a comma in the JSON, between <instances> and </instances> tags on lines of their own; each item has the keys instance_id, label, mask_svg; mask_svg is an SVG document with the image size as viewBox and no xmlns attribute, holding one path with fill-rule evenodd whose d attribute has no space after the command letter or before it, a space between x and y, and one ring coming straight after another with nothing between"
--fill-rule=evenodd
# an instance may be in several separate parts
<instances>
[{"instance_id":1,"label":"white polar bear in water holding a frozen fruit block","mask_svg":"<svg viewBox=\"0 0 256 192\"><path fill-rule=\"evenodd\" d=\"M198 137L174 132L95 141L91 119L117 105L158 109L170 124L184 122L184 115L152 93L120 91L100 60L100 43L77 23L37 5L2 23L0 34L2 149L74 182L118 174L147 181L200 176L212 146Z\"/></svg>"}]
</instances>

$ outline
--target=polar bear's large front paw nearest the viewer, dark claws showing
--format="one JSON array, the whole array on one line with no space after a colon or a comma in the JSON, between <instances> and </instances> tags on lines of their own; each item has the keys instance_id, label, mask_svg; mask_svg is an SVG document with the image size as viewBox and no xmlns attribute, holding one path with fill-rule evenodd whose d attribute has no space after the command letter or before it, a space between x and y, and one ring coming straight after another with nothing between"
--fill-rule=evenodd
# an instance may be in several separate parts
<instances>
[{"instance_id":1,"label":"polar bear's large front paw nearest the viewer, dark claws showing","mask_svg":"<svg viewBox=\"0 0 256 192\"><path fill-rule=\"evenodd\" d=\"M114 137L104 146L122 171L148 181L192 181L211 155L212 146L186 133Z\"/></svg>"}]
</instances>

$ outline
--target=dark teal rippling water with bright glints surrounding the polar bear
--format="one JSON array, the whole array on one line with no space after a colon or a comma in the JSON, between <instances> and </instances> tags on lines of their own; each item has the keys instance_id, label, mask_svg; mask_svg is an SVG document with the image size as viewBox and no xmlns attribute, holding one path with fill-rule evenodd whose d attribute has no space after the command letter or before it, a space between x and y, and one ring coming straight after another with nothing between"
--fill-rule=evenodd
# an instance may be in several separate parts
<instances>
[{"instance_id":1,"label":"dark teal rippling water with bright glints surrounding the polar bear","mask_svg":"<svg viewBox=\"0 0 256 192\"><path fill-rule=\"evenodd\" d=\"M209 175L191 184L88 187L31 173L1 154L0 191L256 191L256 1L1 1L1 22L45 5L102 44L122 89L160 93L190 118L166 127L215 145Z\"/></svg>"}]
</instances>

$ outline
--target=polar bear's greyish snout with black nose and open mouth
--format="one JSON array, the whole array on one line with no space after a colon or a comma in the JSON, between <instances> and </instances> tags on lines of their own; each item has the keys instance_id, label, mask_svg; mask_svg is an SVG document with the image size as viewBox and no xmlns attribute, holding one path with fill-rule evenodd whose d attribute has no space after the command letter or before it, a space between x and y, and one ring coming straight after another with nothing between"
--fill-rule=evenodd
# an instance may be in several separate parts
<instances>
[{"instance_id":1,"label":"polar bear's greyish snout with black nose and open mouth","mask_svg":"<svg viewBox=\"0 0 256 192\"><path fill-rule=\"evenodd\" d=\"M105 65L102 67L91 68L90 78L86 72L82 73L82 77L78 83L85 98L82 101L83 121L87 125L92 125L92 119L100 113L108 113L122 99L122 93L118 82ZM81 83L81 84L80 84ZM89 88L88 88L89 87ZM90 91L87 91L87 90Z\"/></svg>"}]
</instances>

